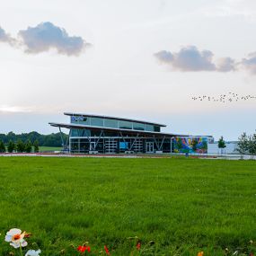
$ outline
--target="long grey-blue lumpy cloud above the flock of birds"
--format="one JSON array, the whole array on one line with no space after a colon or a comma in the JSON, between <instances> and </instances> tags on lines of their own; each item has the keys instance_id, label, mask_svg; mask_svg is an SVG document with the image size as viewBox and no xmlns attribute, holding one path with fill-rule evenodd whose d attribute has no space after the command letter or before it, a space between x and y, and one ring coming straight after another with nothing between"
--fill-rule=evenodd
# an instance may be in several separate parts
<instances>
[{"instance_id":1,"label":"long grey-blue lumpy cloud above the flock of birds","mask_svg":"<svg viewBox=\"0 0 256 256\"><path fill-rule=\"evenodd\" d=\"M235 61L231 57L223 57L213 61L214 54L209 50L197 49L195 46L182 48L178 52L166 50L154 54L161 63L172 66L179 71L219 71L229 72L235 69Z\"/></svg>"}]
</instances>

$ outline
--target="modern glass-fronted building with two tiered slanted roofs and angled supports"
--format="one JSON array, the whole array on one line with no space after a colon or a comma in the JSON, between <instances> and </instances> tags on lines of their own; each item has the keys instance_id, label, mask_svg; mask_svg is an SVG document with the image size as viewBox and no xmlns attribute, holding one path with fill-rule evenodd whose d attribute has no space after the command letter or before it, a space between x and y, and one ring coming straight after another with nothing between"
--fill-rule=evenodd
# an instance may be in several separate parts
<instances>
[{"instance_id":1,"label":"modern glass-fronted building with two tiered slanted roofs and angled supports","mask_svg":"<svg viewBox=\"0 0 256 256\"><path fill-rule=\"evenodd\" d=\"M61 128L69 129L68 139L65 142L62 137L62 144L70 153L171 153L179 137L184 145L178 143L175 152L178 149L184 152L189 146L184 139L189 136L163 133L161 128L166 127L163 124L83 113L64 114L70 118L69 123L49 125L59 128L60 134Z\"/></svg>"}]
</instances>

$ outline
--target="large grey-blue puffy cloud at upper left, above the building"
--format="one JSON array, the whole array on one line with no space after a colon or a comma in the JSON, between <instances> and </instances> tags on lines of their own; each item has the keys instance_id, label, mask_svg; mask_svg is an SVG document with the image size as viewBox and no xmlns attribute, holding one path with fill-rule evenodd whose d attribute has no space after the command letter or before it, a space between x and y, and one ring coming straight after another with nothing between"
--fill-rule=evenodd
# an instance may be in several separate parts
<instances>
[{"instance_id":1,"label":"large grey-blue puffy cloud at upper left, above the building","mask_svg":"<svg viewBox=\"0 0 256 256\"><path fill-rule=\"evenodd\" d=\"M90 44L82 37L69 36L65 29L55 26L51 22L41 22L36 27L19 31L25 52L37 54L57 49L57 53L67 56L78 56Z\"/></svg>"}]
</instances>

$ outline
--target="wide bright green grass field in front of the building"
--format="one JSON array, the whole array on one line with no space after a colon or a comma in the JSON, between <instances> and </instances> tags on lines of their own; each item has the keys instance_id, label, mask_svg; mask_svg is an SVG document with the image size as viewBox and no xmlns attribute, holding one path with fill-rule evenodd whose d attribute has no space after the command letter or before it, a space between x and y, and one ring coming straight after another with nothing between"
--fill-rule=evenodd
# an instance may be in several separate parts
<instances>
[{"instance_id":1,"label":"wide bright green grass field in front of the building","mask_svg":"<svg viewBox=\"0 0 256 256\"><path fill-rule=\"evenodd\" d=\"M256 240L255 161L1 157L0 181L1 241L21 228L41 256L86 241L130 255L134 236L142 255L224 255Z\"/></svg>"}]
</instances>

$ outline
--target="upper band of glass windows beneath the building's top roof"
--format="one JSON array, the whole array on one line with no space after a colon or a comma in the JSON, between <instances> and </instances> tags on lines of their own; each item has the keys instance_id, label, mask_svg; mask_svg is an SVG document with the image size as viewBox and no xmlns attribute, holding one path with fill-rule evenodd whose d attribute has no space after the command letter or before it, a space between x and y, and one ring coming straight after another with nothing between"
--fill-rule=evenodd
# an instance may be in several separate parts
<instances>
[{"instance_id":1,"label":"upper band of glass windows beneath the building's top roof","mask_svg":"<svg viewBox=\"0 0 256 256\"><path fill-rule=\"evenodd\" d=\"M93 127L105 127L105 128L123 128L134 130L145 130L152 132L160 132L159 126L146 124L144 122L127 121L120 119L107 119L107 118L91 118L85 116L71 116L71 123L82 124ZM75 131L74 131L75 134ZM76 137L77 135L72 137Z\"/></svg>"}]
</instances>

